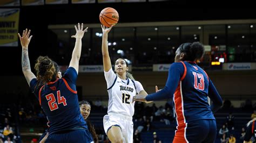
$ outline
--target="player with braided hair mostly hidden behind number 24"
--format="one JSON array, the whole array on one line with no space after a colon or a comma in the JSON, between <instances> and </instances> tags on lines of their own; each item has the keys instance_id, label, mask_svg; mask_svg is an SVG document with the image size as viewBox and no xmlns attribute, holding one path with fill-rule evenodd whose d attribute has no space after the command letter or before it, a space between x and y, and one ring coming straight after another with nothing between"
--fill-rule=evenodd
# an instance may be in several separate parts
<instances>
[{"instance_id":1,"label":"player with braided hair mostly hidden behind number 24","mask_svg":"<svg viewBox=\"0 0 256 143\"><path fill-rule=\"evenodd\" d=\"M83 116L84 120L87 123L88 130L92 134L92 138L94 142L99 142L98 136L96 134L94 126L91 124L91 121L88 119L91 113L91 104L87 101L80 101L79 102L79 108L80 108L80 113ZM44 143L45 140L48 138L48 132L47 130L43 133L43 135L39 139L39 143Z\"/></svg>"}]
</instances>

